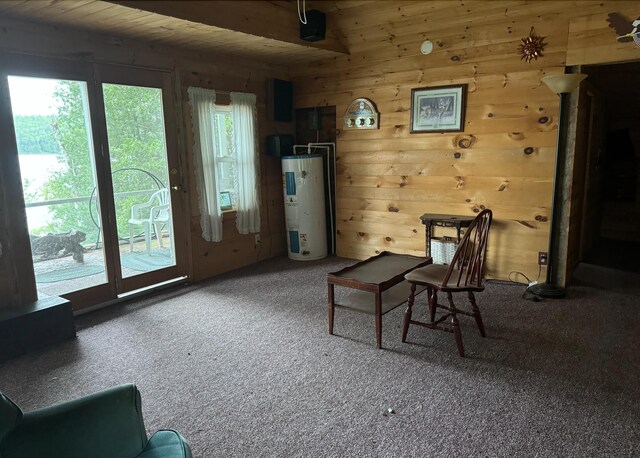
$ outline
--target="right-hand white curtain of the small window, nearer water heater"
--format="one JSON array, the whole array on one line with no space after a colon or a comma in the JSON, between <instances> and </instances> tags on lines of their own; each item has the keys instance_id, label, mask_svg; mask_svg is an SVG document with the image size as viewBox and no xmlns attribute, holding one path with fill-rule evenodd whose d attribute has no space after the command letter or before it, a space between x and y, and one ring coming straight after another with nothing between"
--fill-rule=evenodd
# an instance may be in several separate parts
<instances>
[{"instance_id":1,"label":"right-hand white curtain of the small window, nearer water heater","mask_svg":"<svg viewBox=\"0 0 640 458\"><path fill-rule=\"evenodd\" d=\"M238 171L236 227L241 234L260 232L260 175L255 94L232 92L231 116Z\"/></svg>"}]
</instances>

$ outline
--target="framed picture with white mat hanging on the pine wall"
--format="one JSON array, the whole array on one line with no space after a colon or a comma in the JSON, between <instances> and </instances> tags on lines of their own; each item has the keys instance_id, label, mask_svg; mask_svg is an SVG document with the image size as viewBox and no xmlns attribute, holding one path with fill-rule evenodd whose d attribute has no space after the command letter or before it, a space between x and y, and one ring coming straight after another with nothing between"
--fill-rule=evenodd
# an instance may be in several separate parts
<instances>
[{"instance_id":1,"label":"framed picture with white mat hanging on the pine wall","mask_svg":"<svg viewBox=\"0 0 640 458\"><path fill-rule=\"evenodd\" d=\"M463 132L467 85L411 89L411 133Z\"/></svg>"}]
</instances>

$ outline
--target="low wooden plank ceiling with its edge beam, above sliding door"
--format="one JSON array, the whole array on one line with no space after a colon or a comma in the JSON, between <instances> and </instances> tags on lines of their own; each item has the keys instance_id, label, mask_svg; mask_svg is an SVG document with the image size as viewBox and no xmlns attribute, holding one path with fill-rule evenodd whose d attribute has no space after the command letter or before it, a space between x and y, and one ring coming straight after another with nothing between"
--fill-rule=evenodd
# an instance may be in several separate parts
<instances>
[{"instance_id":1,"label":"low wooden plank ceiling with its edge beam, above sliding door","mask_svg":"<svg viewBox=\"0 0 640 458\"><path fill-rule=\"evenodd\" d=\"M203 55L210 52L234 59L296 64L348 54L330 27L325 40L301 40L297 16L296 2L289 0L0 2L0 17L89 30Z\"/></svg>"}]
</instances>

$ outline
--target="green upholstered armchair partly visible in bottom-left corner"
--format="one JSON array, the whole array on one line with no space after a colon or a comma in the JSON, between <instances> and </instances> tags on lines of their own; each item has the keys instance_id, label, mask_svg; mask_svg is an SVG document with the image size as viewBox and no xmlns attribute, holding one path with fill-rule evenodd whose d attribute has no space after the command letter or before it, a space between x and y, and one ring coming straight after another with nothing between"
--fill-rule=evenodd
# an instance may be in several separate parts
<instances>
[{"instance_id":1,"label":"green upholstered armchair partly visible in bottom-left corner","mask_svg":"<svg viewBox=\"0 0 640 458\"><path fill-rule=\"evenodd\" d=\"M135 385L24 413L0 392L0 458L191 456L176 431L160 430L147 438Z\"/></svg>"}]
</instances>

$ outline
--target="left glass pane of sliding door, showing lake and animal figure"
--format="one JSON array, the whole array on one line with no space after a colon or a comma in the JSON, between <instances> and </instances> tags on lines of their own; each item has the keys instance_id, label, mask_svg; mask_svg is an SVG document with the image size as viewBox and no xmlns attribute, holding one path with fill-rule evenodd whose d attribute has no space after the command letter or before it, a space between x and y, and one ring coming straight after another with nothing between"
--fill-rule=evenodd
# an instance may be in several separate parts
<instances>
[{"instance_id":1,"label":"left glass pane of sliding door, showing lake and animal figure","mask_svg":"<svg viewBox=\"0 0 640 458\"><path fill-rule=\"evenodd\" d=\"M87 84L8 82L38 294L105 284Z\"/></svg>"}]
</instances>

